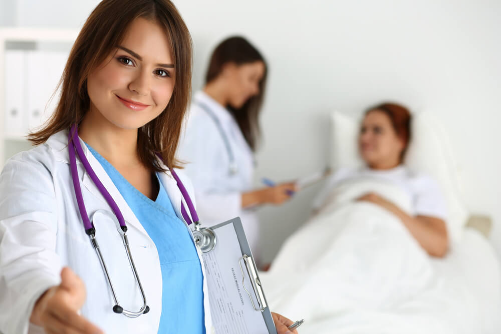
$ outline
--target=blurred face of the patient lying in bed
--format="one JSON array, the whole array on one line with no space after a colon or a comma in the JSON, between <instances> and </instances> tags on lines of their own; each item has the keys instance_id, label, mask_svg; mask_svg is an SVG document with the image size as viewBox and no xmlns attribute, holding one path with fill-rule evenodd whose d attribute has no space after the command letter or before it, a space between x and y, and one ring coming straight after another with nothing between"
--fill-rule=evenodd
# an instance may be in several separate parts
<instances>
[{"instance_id":1,"label":"blurred face of the patient lying in bed","mask_svg":"<svg viewBox=\"0 0 501 334\"><path fill-rule=\"evenodd\" d=\"M371 168L389 169L400 164L404 144L384 112L375 110L365 116L358 144L362 159Z\"/></svg>"}]
</instances>

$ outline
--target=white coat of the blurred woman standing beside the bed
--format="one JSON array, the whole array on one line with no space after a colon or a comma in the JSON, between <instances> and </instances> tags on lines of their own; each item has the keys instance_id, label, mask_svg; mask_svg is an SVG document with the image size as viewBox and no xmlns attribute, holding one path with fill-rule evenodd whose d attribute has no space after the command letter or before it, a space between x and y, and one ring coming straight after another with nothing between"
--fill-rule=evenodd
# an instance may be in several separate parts
<instances>
[{"instance_id":1,"label":"white coat of the blurred woman standing beside the bed","mask_svg":"<svg viewBox=\"0 0 501 334\"><path fill-rule=\"evenodd\" d=\"M236 174L229 172L230 158L221 132L206 105L221 124L228 138ZM253 190L254 154L232 115L200 91L188 113L178 157L186 162L185 171L193 182L198 215L205 225L215 225L239 216L255 257L259 256L259 221L253 209L242 209L241 194Z\"/></svg>"}]
</instances>

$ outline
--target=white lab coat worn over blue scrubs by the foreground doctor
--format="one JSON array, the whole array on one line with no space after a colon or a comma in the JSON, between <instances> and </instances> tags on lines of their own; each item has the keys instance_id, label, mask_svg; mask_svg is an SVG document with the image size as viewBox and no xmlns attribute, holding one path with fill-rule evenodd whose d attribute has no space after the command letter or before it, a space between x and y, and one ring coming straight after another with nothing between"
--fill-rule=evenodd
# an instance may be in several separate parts
<instances>
[{"instance_id":1,"label":"white lab coat worn over blue scrubs by the foreground doctor","mask_svg":"<svg viewBox=\"0 0 501 334\"><path fill-rule=\"evenodd\" d=\"M43 291L60 283L61 268L69 266L86 286L82 315L107 333L156 333L162 311L162 275L155 244L101 164L82 144L92 168L127 222L133 260L150 306L149 313L137 318L114 313L111 289L79 215L67 144L67 132L59 132L46 144L11 158L0 175L0 332L42 332L29 323L33 305ZM77 164L89 216L99 209L111 211L78 159ZM191 183L181 171L176 172L192 196ZM177 216L184 221L180 213L184 199L175 180L170 173L161 175L160 179ZM96 225L96 238L118 301L124 308L137 311L142 306L141 294L120 235L111 221ZM198 256L202 261L200 251ZM201 267L205 274L203 262ZM207 333L212 333L205 279L203 293L205 328ZM189 321L190 314L183 316Z\"/></svg>"}]
</instances>

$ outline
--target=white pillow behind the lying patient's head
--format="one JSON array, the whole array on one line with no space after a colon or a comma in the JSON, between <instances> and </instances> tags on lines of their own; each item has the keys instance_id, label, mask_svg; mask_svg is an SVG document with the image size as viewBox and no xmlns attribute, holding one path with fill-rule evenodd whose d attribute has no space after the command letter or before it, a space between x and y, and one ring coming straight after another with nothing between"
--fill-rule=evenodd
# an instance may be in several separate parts
<instances>
[{"instance_id":1,"label":"white pillow behind the lying patient's head","mask_svg":"<svg viewBox=\"0 0 501 334\"><path fill-rule=\"evenodd\" d=\"M364 163L358 154L360 118L340 112L331 115L331 166L356 168ZM452 158L447 136L431 112L412 115L411 142L404 164L432 177L440 186L447 204L447 229L453 242L460 241L468 218L461 200L458 170Z\"/></svg>"}]
</instances>

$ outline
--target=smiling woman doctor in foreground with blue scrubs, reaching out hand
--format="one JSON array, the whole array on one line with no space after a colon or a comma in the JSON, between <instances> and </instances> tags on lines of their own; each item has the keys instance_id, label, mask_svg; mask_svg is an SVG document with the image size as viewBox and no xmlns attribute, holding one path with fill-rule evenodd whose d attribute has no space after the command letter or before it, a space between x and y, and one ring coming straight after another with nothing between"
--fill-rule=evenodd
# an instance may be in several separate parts
<instances>
[{"instance_id":1,"label":"smiling woman doctor in foreground with blue scrubs, reaching out hand","mask_svg":"<svg viewBox=\"0 0 501 334\"><path fill-rule=\"evenodd\" d=\"M57 109L30 136L39 146L0 176L0 332L213 332L193 191L174 158L190 75L168 0L92 12ZM286 332L292 321L273 316Z\"/></svg>"}]
</instances>

